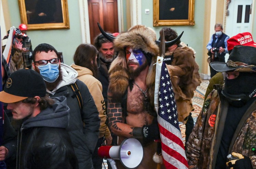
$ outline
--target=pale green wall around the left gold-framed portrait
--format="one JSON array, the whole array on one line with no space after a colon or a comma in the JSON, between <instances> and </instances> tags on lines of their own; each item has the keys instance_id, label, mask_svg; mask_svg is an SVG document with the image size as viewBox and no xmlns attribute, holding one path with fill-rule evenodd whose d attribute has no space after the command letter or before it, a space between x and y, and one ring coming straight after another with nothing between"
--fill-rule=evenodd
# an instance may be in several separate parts
<instances>
[{"instance_id":1,"label":"pale green wall around the left gold-framed portrait","mask_svg":"<svg viewBox=\"0 0 256 169\"><path fill-rule=\"evenodd\" d=\"M18 1L8 0L11 24L18 27L21 23ZM49 43L62 52L65 64L73 63L77 46L82 43L79 2L68 0L70 29L28 31L34 49L40 43Z\"/></svg>"}]
</instances>

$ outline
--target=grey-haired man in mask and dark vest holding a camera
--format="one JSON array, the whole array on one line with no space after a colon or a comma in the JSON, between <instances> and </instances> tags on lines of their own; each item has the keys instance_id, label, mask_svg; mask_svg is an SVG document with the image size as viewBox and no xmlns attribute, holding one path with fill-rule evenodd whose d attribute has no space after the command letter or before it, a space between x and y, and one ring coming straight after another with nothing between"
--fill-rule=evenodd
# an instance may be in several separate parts
<instances>
[{"instance_id":1,"label":"grey-haired man in mask and dark vest holding a camera","mask_svg":"<svg viewBox=\"0 0 256 169\"><path fill-rule=\"evenodd\" d=\"M229 36L223 33L222 24L216 23L214 26L215 34L212 35L206 48L208 49L208 56L210 56L210 62L218 61L225 62L225 55L228 53L227 40ZM211 77L217 72L210 67Z\"/></svg>"}]
</instances>

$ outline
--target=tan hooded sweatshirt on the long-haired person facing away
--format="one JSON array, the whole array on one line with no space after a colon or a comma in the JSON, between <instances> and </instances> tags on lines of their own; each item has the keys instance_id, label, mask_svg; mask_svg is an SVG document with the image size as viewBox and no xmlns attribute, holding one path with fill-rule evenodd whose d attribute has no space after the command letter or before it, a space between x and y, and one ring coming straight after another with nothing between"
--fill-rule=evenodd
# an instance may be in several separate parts
<instances>
[{"instance_id":1,"label":"tan hooded sweatshirt on the long-haired person facing away","mask_svg":"<svg viewBox=\"0 0 256 169\"><path fill-rule=\"evenodd\" d=\"M110 137L110 131L108 126L106 126L106 105L104 103L104 98L102 96L102 85L99 80L93 77L93 72L89 69L72 64L71 68L75 69L78 73L77 79L83 81L88 87L91 96L93 96L95 105L99 111L100 117L100 132L99 138L105 135L106 138Z\"/></svg>"}]
</instances>

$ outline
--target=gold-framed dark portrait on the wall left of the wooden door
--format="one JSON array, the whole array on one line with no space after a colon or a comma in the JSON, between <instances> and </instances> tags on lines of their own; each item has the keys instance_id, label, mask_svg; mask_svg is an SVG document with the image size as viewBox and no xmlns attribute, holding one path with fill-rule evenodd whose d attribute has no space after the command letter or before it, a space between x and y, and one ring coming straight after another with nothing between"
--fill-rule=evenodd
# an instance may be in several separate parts
<instances>
[{"instance_id":1,"label":"gold-framed dark portrait on the wall left of the wooden door","mask_svg":"<svg viewBox=\"0 0 256 169\"><path fill-rule=\"evenodd\" d=\"M18 0L28 30L69 29L68 0Z\"/></svg>"}]
</instances>

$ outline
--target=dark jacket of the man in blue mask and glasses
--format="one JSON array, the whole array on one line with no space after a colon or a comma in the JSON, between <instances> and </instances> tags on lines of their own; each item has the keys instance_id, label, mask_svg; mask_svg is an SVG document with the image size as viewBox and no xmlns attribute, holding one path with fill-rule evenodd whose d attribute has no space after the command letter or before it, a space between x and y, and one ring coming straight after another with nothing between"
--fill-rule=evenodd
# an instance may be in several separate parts
<instances>
[{"instance_id":1,"label":"dark jacket of the man in blue mask and glasses","mask_svg":"<svg viewBox=\"0 0 256 169\"><path fill-rule=\"evenodd\" d=\"M93 169L91 156L97 144L100 118L97 107L89 89L80 80L76 80L78 89L83 99L83 110L80 110L76 97L72 97L74 92L70 85L59 88L50 97L65 96L67 105L70 108L69 127L67 131L70 135L80 169Z\"/></svg>"}]
</instances>

